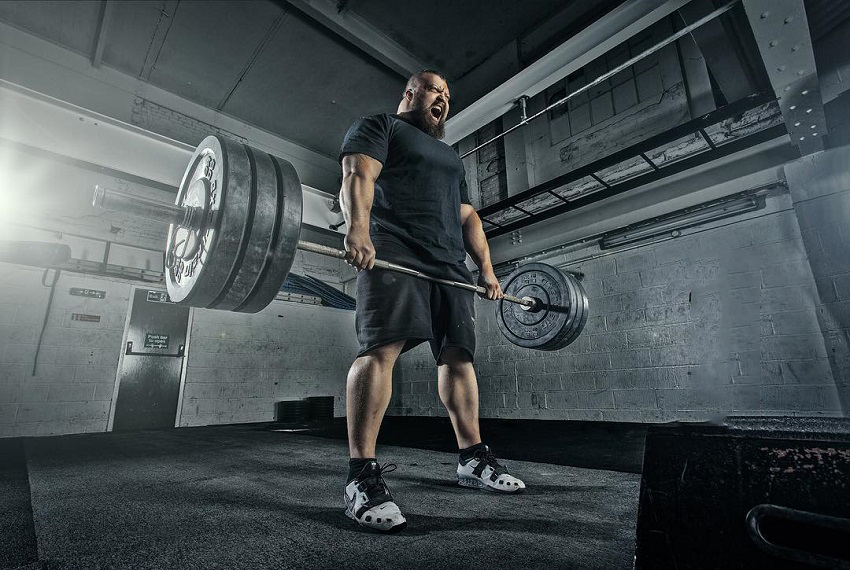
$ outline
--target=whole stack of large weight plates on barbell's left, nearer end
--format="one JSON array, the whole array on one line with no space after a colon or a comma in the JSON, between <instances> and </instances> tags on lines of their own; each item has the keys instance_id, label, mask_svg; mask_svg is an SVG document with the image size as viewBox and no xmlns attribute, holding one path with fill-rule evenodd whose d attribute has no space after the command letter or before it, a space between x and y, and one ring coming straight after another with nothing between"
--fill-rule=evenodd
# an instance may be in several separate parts
<instances>
[{"instance_id":1,"label":"whole stack of large weight plates on barbell's left, nearer end","mask_svg":"<svg viewBox=\"0 0 850 570\"><path fill-rule=\"evenodd\" d=\"M266 307L295 258L301 200L301 183L288 162L223 137L204 139L175 202L203 215L192 227L168 231L172 300L244 313Z\"/></svg>"}]
</instances>

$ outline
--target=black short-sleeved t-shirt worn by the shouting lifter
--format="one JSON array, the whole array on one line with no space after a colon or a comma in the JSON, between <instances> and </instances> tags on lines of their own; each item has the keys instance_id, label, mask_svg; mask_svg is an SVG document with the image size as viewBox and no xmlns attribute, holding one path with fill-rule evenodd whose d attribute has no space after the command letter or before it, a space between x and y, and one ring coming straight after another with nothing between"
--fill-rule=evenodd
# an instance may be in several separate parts
<instances>
[{"instance_id":1,"label":"black short-sleeved t-shirt worn by the shouting lifter","mask_svg":"<svg viewBox=\"0 0 850 570\"><path fill-rule=\"evenodd\" d=\"M450 146L398 115L382 114L354 122L340 161L346 154L383 164L369 224L379 259L440 275L454 276L462 268L469 275L460 222L469 191L463 163Z\"/></svg>"}]
</instances>

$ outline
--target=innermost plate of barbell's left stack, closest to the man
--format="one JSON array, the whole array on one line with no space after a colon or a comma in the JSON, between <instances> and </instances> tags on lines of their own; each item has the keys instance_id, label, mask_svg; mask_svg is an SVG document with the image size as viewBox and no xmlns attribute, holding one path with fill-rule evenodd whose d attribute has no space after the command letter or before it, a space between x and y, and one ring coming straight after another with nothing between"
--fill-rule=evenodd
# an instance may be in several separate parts
<instances>
[{"instance_id":1,"label":"innermost plate of barbell's left stack, closest to the man","mask_svg":"<svg viewBox=\"0 0 850 570\"><path fill-rule=\"evenodd\" d=\"M265 169L264 172L274 176L277 216L275 237L266 253L265 264L258 269L256 284L245 301L234 309L242 313L261 311L280 291L295 260L303 212L301 181L298 179L295 168L282 158L261 151L255 152L257 164L261 162L267 164L270 170ZM264 156L263 160L260 159L260 155Z\"/></svg>"}]
</instances>

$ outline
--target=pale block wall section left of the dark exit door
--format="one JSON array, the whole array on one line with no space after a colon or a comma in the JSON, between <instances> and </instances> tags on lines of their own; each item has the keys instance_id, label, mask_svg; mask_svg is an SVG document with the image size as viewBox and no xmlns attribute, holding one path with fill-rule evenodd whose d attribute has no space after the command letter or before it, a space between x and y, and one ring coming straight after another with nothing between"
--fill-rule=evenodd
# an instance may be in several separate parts
<instances>
[{"instance_id":1,"label":"pale block wall section left of the dark exit door","mask_svg":"<svg viewBox=\"0 0 850 570\"><path fill-rule=\"evenodd\" d=\"M105 431L115 387L130 284L62 273L33 374L49 288L42 270L0 271L0 437ZM70 295L72 287L106 292ZM98 322L74 320L96 315Z\"/></svg>"}]
</instances>

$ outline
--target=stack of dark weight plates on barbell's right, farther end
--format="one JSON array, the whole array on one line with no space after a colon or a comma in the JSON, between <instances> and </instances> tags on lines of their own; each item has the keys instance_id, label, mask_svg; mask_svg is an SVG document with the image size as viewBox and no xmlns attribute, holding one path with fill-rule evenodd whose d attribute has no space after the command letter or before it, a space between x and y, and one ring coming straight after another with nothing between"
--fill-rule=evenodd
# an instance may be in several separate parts
<instances>
[{"instance_id":1,"label":"stack of dark weight plates on barbell's right, farther end","mask_svg":"<svg viewBox=\"0 0 850 570\"><path fill-rule=\"evenodd\" d=\"M559 350L581 334L588 301L581 283L545 263L518 267L502 283L508 295L539 300L539 310L499 301L496 322L509 342L524 348Z\"/></svg>"}]
</instances>

